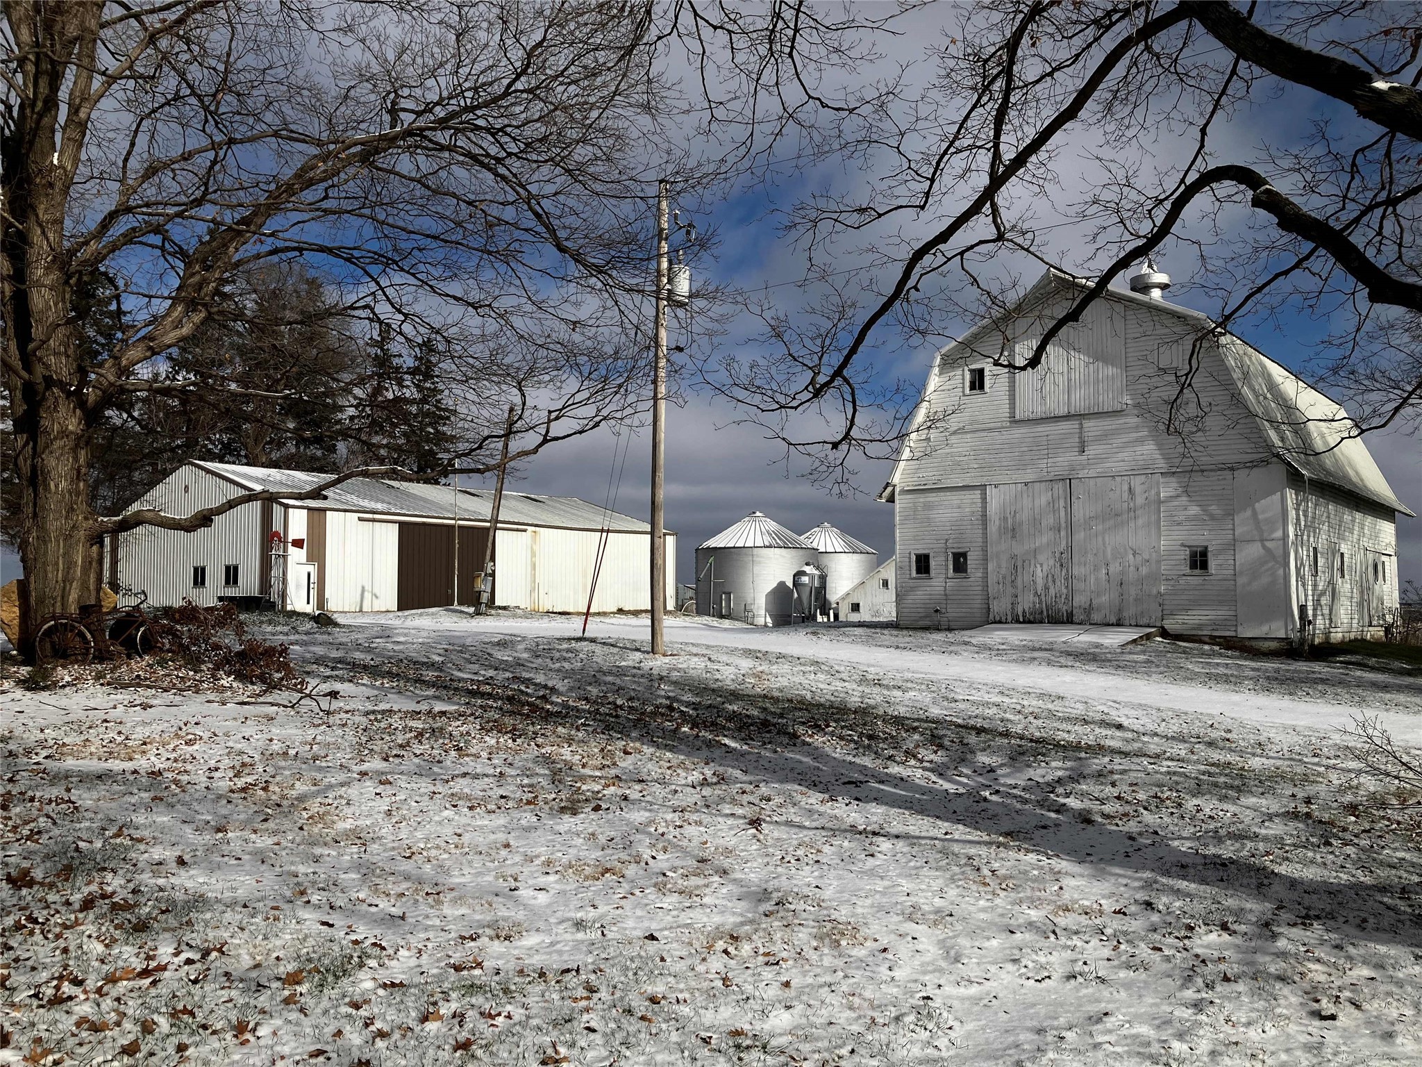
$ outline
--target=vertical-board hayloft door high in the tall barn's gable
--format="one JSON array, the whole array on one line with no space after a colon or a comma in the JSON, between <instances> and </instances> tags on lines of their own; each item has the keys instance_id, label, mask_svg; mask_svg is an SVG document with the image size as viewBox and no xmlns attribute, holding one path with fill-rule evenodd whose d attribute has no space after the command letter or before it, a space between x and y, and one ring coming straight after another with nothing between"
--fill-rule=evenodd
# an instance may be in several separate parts
<instances>
[{"instance_id":1,"label":"vertical-board hayloft door high in the tall barn's gable","mask_svg":"<svg viewBox=\"0 0 1422 1067\"><path fill-rule=\"evenodd\" d=\"M1014 361L1025 363L1048 320L1038 320L1014 346ZM1018 420L1055 418L1095 411L1121 411L1126 405L1125 309L1099 300L1081 322L1062 330L1047 347L1035 370L1012 376L1012 415Z\"/></svg>"}]
</instances>

